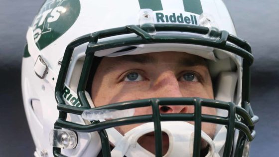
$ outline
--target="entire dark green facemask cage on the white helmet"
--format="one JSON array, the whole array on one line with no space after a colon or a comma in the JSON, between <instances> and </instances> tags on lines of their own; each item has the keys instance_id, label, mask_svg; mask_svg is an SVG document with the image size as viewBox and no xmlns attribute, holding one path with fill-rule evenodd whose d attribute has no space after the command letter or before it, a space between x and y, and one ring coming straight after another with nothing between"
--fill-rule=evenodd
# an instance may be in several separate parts
<instances>
[{"instance_id":1,"label":"entire dark green facemask cage on the white helmet","mask_svg":"<svg viewBox=\"0 0 279 157\"><path fill-rule=\"evenodd\" d=\"M179 31L179 32L190 32L190 33L197 33L197 34L208 34L209 28L203 26L194 26L194 25L185 25L185 24L155 24L156 31ZM115 36L115 35L122 35L122 34L130 34L135 33L137 37L129 37L129 38L121 38L121 39L114 39L109 41L104 41L98 43L98 39ZM227 132L227 139L225 144L225 149L229 150L224 153L223 157L229 157L232 150L233 144L233 133L234 128L239 129L241 134L239 136L239 144L237 148L243 148L244 142L246 140L252 141L255 137L254 131L254 124L258 121L258 117L254 115L249 115L249 113L253 113L251 108L249 107L249 94L250 94L250 65L253 63L253 56L251 54L251 47L250 45L242 40L239 39L227 31L221 32L211 32L214 36L219 36L217 38L204 38L201 36L181 36L181 35L150 35L144 30L142 30L137 25L129 25L126 27L119 27L113 28L108 30L97 31L95 33L87 34L84 36L79 37L78 39L71 42L66 50L63 57L61 69L59 72L59 76L57 79L57 84L55 88L55 97L58 103L58 110L59 110L59 118L57 122L54 124L55 129L69 129L77 132L94 132L98 131L101 141L102 141L102 150L104 157L110 157L110 147L108 136L104 129L111 128L115 126L127 125L127 124L134 124L134 123L146 123L146 122L154 122L155 126L155 141L156 146L156 157L161 157L161 130L160 130L160 121L170 121L170 120L178 120L178 121L195 121L195 134L194 137L194 155L193 157L199 157L200 153L200 139L201 139L201 122L210 122L215 124L222 124L228 126ZM228 42L227 42L228 41ZM70 59L75 47L89 42L86 50L86 57L78 85L78 98L82 105L81 108L69 106L65 104L63 100L63 87L68 71L68 67L70 64ZM96 51L121 47L121 46L131 46L131 45L138 45L138 44L151 44L151 43L184 43L184 44L196 44L196 45L203 45L203 46L210 46L219 49L223 49L226 51L230 51L236 55L239 55L243 58L243 84L242 84L242 107L240 108L233 103L224 103L217 100L202 100L199 98L171 98L169 100L160 98L160 99L149 99L147 100L136 100L131 101L133 105L129 106L123 103L111 104L106 105L94 109L90 109L90 105L87 101L85 96L85 88L88 79L88 75L90 72L91 65L94 60L94 53ZM247 93L247 94L246 94ZM174 103L174 100L177 102ZM150 104L150 101L152 102ZM180 103L179 103L180 102ZM195 106L195 113L193 114L159 114L158 105L169 105L169 104L176 104L176 105L185 105L190 104ZM67 122L66 117L67 113L73 113L81 115L85 109L90 110L101 110L101 109L129 109L143 107L143 106L152 106L153 115L144 115L144 116L136 116L136 117L127 117L125 119L115 119L105 122L92 122L91 125L82 126L79 124L75 124L72 122ZM201 106L208 106L208 107L215 107L224 110L228 110L229 115L227 118L222 118L218 116L211 116L211 115L201 115ZM249 112L249 113L248 113ZM242 117L241 122L235 121L235 113ZM252 119L251 119L251 116ZM173 118L171 118L173 117ZM121 120L121 123L120 121ZM243 150L243 149L242 149ZM241 152L241 151L240 151ZM53 154L56 157L64 157L61 155L61 150L59 148L53 148ZM237 156L236 156L237 157Z\"/></svg>"}]
</instances>

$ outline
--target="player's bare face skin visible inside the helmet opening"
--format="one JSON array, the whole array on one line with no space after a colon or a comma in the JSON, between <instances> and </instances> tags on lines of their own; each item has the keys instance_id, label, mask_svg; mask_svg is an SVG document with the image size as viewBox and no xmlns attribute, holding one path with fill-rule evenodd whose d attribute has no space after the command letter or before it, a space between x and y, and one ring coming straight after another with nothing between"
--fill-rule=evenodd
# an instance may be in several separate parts
<instances>
[{"instance_id":1,"label":"player's bare face skin visible inside the helmet opening","mask_svg":"<svg viewBox=\"0 0 279 157\"><path fill-rule=\"evenodd\" d=\"M98 77L93 79L91 96L96 107L116 102L160 97L214 99L206 61L202 57L185 52L155 52L104 57L95 76ZM194 77L187 80L184 76ZM132 80L131 78L137 79ZM160 113L193 113L194 107L160 106L159 110ZM151 107L136 108L134 115L151 113ZM202 114L216 115L216 110L202 107ZM121 126L116 129L124 135L139 125ZM213 138L215 125L203 123L202 130ZM163 134L162 138L163 154L165 154L169 146L168 136ZM138 143L149 152L154 153L155 142L153 139L152 133L147 134L139 138ZM202 141L201 147L205 149L207 144Z\"/></svg>"}]
</instances>

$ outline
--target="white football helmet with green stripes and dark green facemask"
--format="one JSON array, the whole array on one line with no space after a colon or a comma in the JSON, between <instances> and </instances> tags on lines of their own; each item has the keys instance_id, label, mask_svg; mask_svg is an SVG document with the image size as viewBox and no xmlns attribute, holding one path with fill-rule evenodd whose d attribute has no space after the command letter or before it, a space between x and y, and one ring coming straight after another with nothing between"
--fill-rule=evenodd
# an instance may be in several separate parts
<instances>
[{"instance_id":1,"label":"white football helmet with green stripes and dark green facemask","mask_svg":"<svg viewBox=\"0 0 279 157\"><path fill-rule=\"evenodd\" d=\"M255 138L250 105L250 45L236 36L222 0L46 0L28 28L22 60L24 109L35 157L149 157L139 146L154 132L162 157L248 157ZM94 107L88 84L102 57L187 52L205 58L215 99L150 98ZM94 87L93 87L94 88ZM191 105L194 113L160 114L158 106ZM133 116L137 107L151 115ZM216 115L201 114L201 107ZM194 122L194 125L185 123ZM201 123L217 125L214 139ZM140 123L121 135L114 127ZM175 138L176 137L176 138ZM179 137L179 138L177 138Z\"/></svg>"}]
</instances>

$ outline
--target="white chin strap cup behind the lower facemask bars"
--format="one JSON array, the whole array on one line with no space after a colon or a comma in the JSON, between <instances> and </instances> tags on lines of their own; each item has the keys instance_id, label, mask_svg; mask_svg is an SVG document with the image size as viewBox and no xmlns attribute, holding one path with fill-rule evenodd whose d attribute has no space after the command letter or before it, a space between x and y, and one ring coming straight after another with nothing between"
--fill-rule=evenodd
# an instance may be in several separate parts
<instances>
[{"instance_id":1,"label":"white chin strap cup behind the lower facemask bars","mask_svg":"<svg viewBox=\"0 0 279 157\"><path fill-rule=\"evenodd\" d=\"M115 148L112 150L112 157L155 157L138 144L138 139L154 131L153 123L142 124L122 136L114 128L106 130L109 139ZM194 126L187 122L161 122L161 131L168 135L169 148L163 157L192 157L194 147ZM201 132L201 137L209 145L206 157L219 157L215 153L215 146L211 138ZM154 140L151 139L151 140ZM155 147L155 146L151 146Z\"/></svg>"}]
</instances>

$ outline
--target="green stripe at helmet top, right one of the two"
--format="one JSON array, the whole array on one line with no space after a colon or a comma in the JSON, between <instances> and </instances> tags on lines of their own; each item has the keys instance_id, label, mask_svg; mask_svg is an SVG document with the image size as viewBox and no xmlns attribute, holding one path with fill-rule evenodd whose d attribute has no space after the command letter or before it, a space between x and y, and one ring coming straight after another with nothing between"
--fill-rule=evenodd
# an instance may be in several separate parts
<instances>
[{"instance_id":1,"label":"green stripe at helmet top, right one of the two","mask_svg":"<svg viewBox=\"0 0 279 157\"><path fill-rule=\"evenodd\" d=\"M200 0L183 0L184 10L187 12L193 12L201 14L202 6Z\"/></svg>"}]
</instances>

